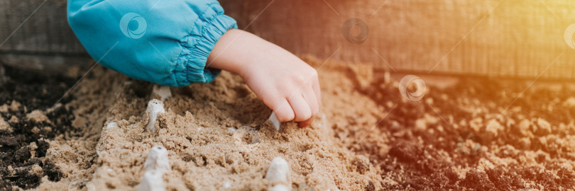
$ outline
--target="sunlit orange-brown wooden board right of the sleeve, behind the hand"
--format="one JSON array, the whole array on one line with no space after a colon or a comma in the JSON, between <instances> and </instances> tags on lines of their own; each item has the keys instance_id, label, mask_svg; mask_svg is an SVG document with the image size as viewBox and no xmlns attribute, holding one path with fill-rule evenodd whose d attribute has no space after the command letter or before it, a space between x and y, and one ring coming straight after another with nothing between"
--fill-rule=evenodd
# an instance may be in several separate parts
<instances>
[{"instance_id":1,"label":"sunlit orange-brown wooden board right of the sleeve, behind the hand","mask_svg":"<svg viewBox=\"0 0 575 191\"><path fill-rule=\"evenodd\" d=\"M296 54L324 59L333 54L332 59L378 67L389 64L407 73L575 79L575 50L564 40L565 29L575 23L572 0L222 0L221 4L240 28ZM349 18L368 25L363 44L344 39L341 30Z\"/></svg>"}]
</instances>

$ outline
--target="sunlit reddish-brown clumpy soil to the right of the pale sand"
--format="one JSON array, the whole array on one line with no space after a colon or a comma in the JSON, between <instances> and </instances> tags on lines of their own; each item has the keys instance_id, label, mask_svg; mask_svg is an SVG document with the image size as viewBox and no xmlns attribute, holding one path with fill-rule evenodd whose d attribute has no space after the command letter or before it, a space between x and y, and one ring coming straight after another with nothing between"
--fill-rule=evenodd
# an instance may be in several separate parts
<instances>
[{"instance_id":1,"label":"sunlit reddish-brown clumpy soil to the right of the pale sand","mask_svg":"<svg viewBox=\"0 0 575 191\"><path fill-rule=\"evenodd\" d=\"M358 152L383 161L384 178L393 180L385 189L574 189L575 110L562 103L575 89L556 84L559 91L519 80L461 78L449 88L427 86L425 98L413 102L398 95L394 83L376 79L359 91L378 105L397 104L378 125L392 137L385 142L390 149Z\"/></svg>"}]
</instances>

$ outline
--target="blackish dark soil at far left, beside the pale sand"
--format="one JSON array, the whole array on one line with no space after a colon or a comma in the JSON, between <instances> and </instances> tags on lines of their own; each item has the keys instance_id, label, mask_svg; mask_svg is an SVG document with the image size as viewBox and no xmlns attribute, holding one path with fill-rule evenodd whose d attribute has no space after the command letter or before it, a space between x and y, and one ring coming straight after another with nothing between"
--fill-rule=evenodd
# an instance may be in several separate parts
<instances>
[{"instance_id":1,"label":"blackish dark soil at far left, beside the pale sand","mask_svg":"<svg viewBox=\"0 0 575 191\"><path fill-rule=\"evenodd\" d=\"M47 140L71 131L74 116L70 107L48 108L64 95L76 79L38 74L9 66L4 66L4 73L0 77L0 105L11 105L17 101L21 106L18 110L0 112L0 117L13 128L13 132L0 131L0 190L12 190L12 186L31 189L40 185L43 176L48 176L48 180L52 181L60 180L60 169L45 160L50 148ZM60 103L65 105L70 100L72 97L67 96ZM33 110L47 110L46 116L50 122L28 120L26 114ZM13 116L18 118L17 122L10 121ZM32 142L38 146L34 156L29 147ZM40 166L42 172L33 173L34 165Z\"/></svg>"}]
</instances>

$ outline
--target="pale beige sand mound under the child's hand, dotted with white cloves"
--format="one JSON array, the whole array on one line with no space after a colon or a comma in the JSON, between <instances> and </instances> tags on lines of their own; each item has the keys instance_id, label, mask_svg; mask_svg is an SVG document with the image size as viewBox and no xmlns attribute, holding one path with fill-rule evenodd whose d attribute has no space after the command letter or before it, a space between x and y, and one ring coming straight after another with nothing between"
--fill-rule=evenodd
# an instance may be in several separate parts
<instances>
[{"instance_id":1,"label":"pale beige sand mound under the child's hand, dotted with white cloves","mask_svg":"<svg viewBox=\"0 0 575 191\"><path fill-rule=\"evenodd\" d=\"M368 158L346 149L332 129L345 121L344 115L376 108L369 98L341 103L344 95L332 100L335 96L327 93L326 103L336 102L336 108L323 110L332 112L321 112L310 128L292 122L278 132L266 122L271 110L239 76L223 72L213 83L172 88L173 96L163 102L166 112L158 116L158 130L151 132L145 128L145 111L148 101L158 98L151 96L153 85L102 68L93 72L94 78L82 82L77 100L70 103L79 108L73 124L84 128L83 136L62 135L48 150L66 178L45 181L40 190L81 185L79 180L103 189L135 189L146 156L156 145L168 149L172 170L163 176L168 190L267 190L265 172L276 156L290 164L296 188L363 190L381 181ZM353 85L349 80L340 84L349 89L334 93L350 91ZM366 122L379 116L372 112ZM116 125L106 128L112 122Z\"/></svg>"}]
</instances>

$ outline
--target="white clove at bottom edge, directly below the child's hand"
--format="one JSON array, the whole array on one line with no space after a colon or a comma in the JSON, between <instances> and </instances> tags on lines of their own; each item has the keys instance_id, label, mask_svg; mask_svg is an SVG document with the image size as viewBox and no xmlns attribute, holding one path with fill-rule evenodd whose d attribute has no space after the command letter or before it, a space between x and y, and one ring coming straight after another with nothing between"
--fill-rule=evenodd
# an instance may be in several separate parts
<instances>
[{"instance_id":1,"label":"white clove at bottom edge, directly below the child's hand","mask_svg":"<svg viewBox=\"0 0 575 191\"><path fill-rule=\"evenodd\" d=\"M265 173L265 179L270 181L270 185L275 185L271 187L270 190L275 190L274 188L278 185L283 185L288 187L288 185L292 185L290 183L290 164L285 159L281 158L280 156L273 158L270 163L270 167L268 168L268 172ZM278 187L278 189L280 189Z\"/></svg>"}]
</instances>

